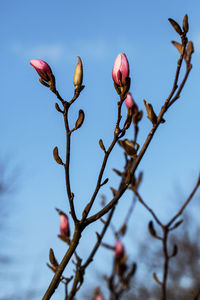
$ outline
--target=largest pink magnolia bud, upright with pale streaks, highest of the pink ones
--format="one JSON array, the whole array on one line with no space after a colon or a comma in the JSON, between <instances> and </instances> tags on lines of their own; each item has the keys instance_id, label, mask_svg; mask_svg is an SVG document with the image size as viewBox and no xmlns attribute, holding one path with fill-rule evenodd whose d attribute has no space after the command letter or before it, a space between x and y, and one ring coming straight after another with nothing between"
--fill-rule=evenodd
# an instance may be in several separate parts
<instances>
[{"instance_id":1,"label":"largest pink magnolia bud, upright with pale streaks, highest of the pink ones","mask_svg":"<svg viewBox=\"0 0 200 300\"><path fill-rule=\"evenodd\" d=\"M129 76L129 63L126 54L120 53L115 59L112 78L117 85L120 85L119 80L122 84L125 83L126 77Z\"/></svg>"}]
</instances>

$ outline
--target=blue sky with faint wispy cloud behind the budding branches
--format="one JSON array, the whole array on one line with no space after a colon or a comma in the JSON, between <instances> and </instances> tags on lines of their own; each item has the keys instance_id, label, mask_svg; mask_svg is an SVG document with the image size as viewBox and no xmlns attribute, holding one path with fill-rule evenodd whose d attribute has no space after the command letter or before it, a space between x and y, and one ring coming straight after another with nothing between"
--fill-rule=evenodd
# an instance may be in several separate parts
<instances>
[{"instance_id":1,"label":"blue sky with faint wispy cloud behind the budding branches","mask_svg":"<svg viewBox=\"0 0 200 300\"><path fill-rule=\"evenodd\" d=\"M54 95L39 83L29 61L47 61L60 94L70 99L77 55L82 58L85 89L70 109L71 126L80 108L86 116L72 140L72 189L77 211L81 213L94 189L103 157L98 140L102 138L108 146L113 136L117 95L111 72L116 56L124 52L128 57L130 91L139 108L144 110L146 99L158 112L172 86L178 58L170 41L178 41L179 37L168 18L182 23L184 14L188 14L189 39L195 46L193 70L182 97L167 113L166 123L158 130L140 166L145 174L141 194L167 219L167 213L173 213L176 190L180 188L187 196L200 166L199 12L198 0L1 1L1 159L6 161L9 157L19 169L19 180L10 209L6 248L9 254L17 255L17 261L8 270L10 277L5 279L0 296L34 287L41 296L52 276L45 266L49 248L54 248L59 259L65 252L65 246L56 238L59 222L54 208L67 212L69 207L64 172L52 156L53 148L58 146L64 157L64 126L54 108ZM124 115L125 111L124 107ZM141 145L149 130L150 122L144 113L139 132ZM123 164L122 151L116 147L105 174L110 183L102 191L108 199L109 186L117 187L118 182L110 170L122 168ZM126 211L130 197L127 194L121 199L116 222ZM131 231L135 240L144 229L141 222L146 225L148 217L138 205L134 213L137 233ZM91 226L87 232L94 240L95 230ZM136 253L137 246L132 245L130 238L128 243L130 252ZM86 256L88 244L81 244L81 251ZM96 267L101 261L99 255ZM53 299L61 299L60 295L58 292Z\"/></svg>"}]
</instances>

